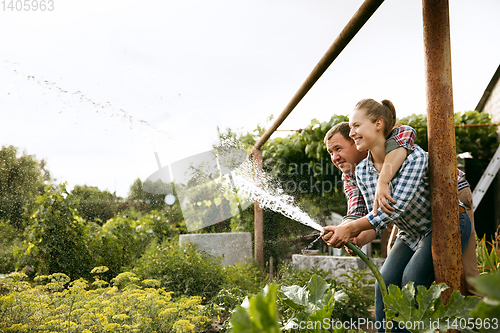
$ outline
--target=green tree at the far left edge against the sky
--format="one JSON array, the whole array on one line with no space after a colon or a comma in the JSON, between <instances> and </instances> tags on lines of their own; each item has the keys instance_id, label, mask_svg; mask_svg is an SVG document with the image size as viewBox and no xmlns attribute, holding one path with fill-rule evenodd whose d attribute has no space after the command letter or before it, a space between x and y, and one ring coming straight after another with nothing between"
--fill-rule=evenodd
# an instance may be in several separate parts
<instances>
[{"instance_id":1,"label":"green tree at the far left edge against the sky","mask_svg":"<svg viewBox=\"0 0 500 333\"><path fill-rule=\"evenodd\" d=\"M50 181L44 160L19 155L14 146L2 146L0 150L0 219L9 220L17 231L25 227L25 214L32 212L36 196Z\"/></svg>"}]
</instances>

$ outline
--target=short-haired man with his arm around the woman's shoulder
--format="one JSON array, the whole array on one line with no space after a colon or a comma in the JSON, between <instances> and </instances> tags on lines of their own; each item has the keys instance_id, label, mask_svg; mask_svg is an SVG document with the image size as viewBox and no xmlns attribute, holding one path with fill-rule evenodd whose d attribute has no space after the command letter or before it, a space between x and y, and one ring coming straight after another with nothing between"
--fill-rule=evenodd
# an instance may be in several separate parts
<instances>
[{"instance_id":1,"label":"short-haired man with his arm around the woman's shoulder","mask_svg":"<svg viewBox=\"0 0 500 333\"><path fill-rule=\"evenodd\" d=\"M366 204L363 197L359 194L356 188L348 185L348 180L354 177L356 165L366 158L367 151L358 151L354 141L349 137L349 124L347 122L339 123L332 127L325 136L324 143L326 144L328 153L331 156L333 164L342 171L342 180L344 181L344 192L347 197L347 215L344 221L353 220L363 217L366 214ZM391 137L386 141L386 159L384 166L380 172L379 188L377 185L377 193L374 203L374 214L380 207L387 214L391 214L393 208L389 202L395 203L390 197L388 187L384 188L383 184L388 184L394 177L399 166L403 163L406 155L413 151L413 143L415 141L415 130L408 126L399 126L392 133ZM393 167L394 166L394 167ZM397 168L396 168L397 166ZM458 195L460 201L467 208L467 215L471 221L471 235L467 247L462 254L462 262L465 275L465 291L467 295L478 295L474 287L468 283L469 277L479 275L476 259L476 238L474 229L474 215L472 206L472 193L469 184L464 178L464 173L458 170L459 186ZM379 191L380 190L380 191ZM394 227L396 228L396 227ZM330 235L331 236L331 235ZM325 241L329 239L329 235L325 236ZM373 238L372 238L373 239ZM355 243L363 243L362 239L354 239ZM328 242L327 242L328 244ZM390 246L390 244L389 244Z\"/></svg>"}]
</instances>

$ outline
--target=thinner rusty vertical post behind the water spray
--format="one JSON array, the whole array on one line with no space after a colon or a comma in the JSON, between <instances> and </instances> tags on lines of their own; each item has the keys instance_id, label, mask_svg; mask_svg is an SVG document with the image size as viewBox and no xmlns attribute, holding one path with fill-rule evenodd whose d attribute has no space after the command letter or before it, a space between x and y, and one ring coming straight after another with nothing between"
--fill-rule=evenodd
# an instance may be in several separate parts
<instances>
[{"instance_id":1,"label":"thinner rusty vertical post behind the water spray","mask_svg":"<svg viewBox=\"0 0 500 333\"><path fill-rule=\"evenodd\" d=\"M255 185L262 186L262 151L255 150L254 158L254 180ZM260 267L264 269L264 214L258 201L254 202L254 256Z\"/></svg>"}]
</instances>

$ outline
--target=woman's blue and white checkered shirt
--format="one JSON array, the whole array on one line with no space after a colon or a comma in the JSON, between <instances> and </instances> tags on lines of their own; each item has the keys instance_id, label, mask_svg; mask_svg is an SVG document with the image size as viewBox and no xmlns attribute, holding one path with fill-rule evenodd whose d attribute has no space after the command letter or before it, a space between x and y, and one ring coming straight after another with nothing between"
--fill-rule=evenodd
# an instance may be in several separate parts
<instances>
[{"instance_id":1,"label":"woman's blue and white checkered shirt","mask_svg":"<svg viewBox=\"0 0 500 333\"><path fill-rule=\"evenodd\" d=\"M366 201L366 207L370 208L365 217L379 231L394 222L400 230L398 237L412 250L415 250L422 238L432 230L427 166L428 154L416 146L389 184L392 197L397 200L393 205L394 212L388 215L379 209L377 216L373 216L371 207L375 199L379 172L369 157L356 167L356 183Z\"/></svg>"}]
</instances>

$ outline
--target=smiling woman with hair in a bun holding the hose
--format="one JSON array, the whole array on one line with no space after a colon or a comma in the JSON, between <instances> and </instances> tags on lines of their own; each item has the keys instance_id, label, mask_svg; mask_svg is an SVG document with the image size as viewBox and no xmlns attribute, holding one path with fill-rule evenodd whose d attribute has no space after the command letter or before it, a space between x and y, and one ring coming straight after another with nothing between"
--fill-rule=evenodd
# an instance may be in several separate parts
<instances>
[{"instance_id":1,"label":"smiling woman with hair in a bun holding the hose","mask_svg":"<svg viewBox=\"0 0 500 333\"><path fill-rule=\"evenodd\" d=\"M396 111L388 100L378 103L372 99L365 99L351 112L349 136L354 140L358 150L369 151L367 158L356 167L356 178L353 181L363 195L370 213L338 227L326 227L325 230L334 231L328 243L334 247L341 247L353 235L365 230L370 231L360 234L358 238L364 234L365 238L373 239L375 232L372 229L381 232L390 222L394 222L400 232L381 269L386 285L395 284L403 287L413 281L415 288L418 285L428 288L434 280L434 269L431 254L428 155L425 151L415 145L415 150L407 156L390 182L392 197L396 201L392 205L392 214L382 210L378 210L376 214L372 212L377 180L385 158L385 141L395 122ZM466 213L460 214L460 230L463 251L470 235L470 221ZM377 321L385 318L378 284L375 288L375 317Z\"/></svg>"}]
</instances>

